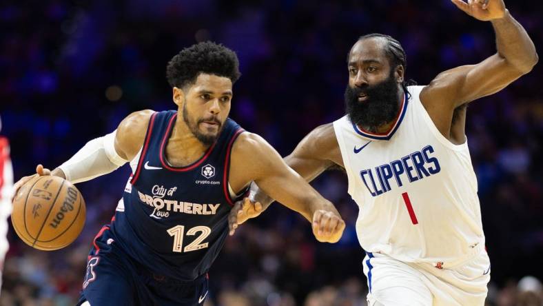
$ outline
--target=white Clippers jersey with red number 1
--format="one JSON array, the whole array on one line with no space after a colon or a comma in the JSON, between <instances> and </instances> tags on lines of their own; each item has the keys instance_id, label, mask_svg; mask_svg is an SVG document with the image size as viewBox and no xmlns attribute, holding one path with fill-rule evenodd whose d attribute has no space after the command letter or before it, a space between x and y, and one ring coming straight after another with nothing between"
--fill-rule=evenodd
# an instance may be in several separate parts
<instances>
[{"instance_id":1,"label":"white Clippers jersey with red number 1","mask_svg":"<svg viewBox=\"0 0 543 306\"><path fill-rule=\"evenodd\" d=\"M409 86L387 134L360 130L347 116L334 130L360 208L356 232L366 252L408 263L458 265L484 247L477 179L467 141L453 145Z\"/></svg>"}]
</instances>

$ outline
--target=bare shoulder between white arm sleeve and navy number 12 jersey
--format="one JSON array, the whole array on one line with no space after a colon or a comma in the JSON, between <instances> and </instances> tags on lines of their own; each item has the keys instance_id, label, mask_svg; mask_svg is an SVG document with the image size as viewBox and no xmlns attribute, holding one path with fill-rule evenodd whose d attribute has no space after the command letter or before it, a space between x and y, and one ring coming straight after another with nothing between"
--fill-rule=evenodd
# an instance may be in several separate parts
<instances>
[{"instance_id":1,"label":"bare shoulder between white arm sleeve and navy number 12 jersey","mask_svg":"<svg viewBox=\"0 0 543 306\"><path fill-rule=\"evenodd\" d=\"M115 136L116 147L119 147L125 156L134 156L138 153L145 134L147 134L147 126L151 119L153 110L140 110L126 116L119 124Z\"/></svg>"}]
</instances>

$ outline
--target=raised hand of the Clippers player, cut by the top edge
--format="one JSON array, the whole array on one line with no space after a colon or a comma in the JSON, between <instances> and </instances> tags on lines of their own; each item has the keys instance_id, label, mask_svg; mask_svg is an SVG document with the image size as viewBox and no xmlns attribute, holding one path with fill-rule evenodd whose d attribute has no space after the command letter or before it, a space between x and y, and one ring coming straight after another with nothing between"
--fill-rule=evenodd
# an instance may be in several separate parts
<instances>
[{"instance_id":1,"label":"raised hand of the Clippers player, cut by the top edge","mask_svg":"<svg viewBox=\"0 0 543 306\"><path fill-rule=\"evenodd\" d=\"M451 0L457 8L480 21L500 19L505 16L506 9L503 0Z\"/></svg>"}]
</instances>

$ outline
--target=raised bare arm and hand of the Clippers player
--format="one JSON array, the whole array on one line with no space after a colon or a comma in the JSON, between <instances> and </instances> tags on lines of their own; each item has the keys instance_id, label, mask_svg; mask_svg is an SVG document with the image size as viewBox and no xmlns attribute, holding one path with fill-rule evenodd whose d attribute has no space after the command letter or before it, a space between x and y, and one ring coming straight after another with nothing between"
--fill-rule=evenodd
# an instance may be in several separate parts
<instances>
[{"instance_id":1,"label":"raised bare arm and hand of the Clippers player","mask_svg":"<svg viewBox=\"0 0 543 306\"><path fill-rule=\"evenodd\" d=\"M451 1L473 18L491 21L498 52L477 65L442 72L422 90L421 101L433 119L433 113L452 112L459 105L502 90L530 72L538 61L533 41L506 10L503 0Z\"/></svg>"}]
</instances>

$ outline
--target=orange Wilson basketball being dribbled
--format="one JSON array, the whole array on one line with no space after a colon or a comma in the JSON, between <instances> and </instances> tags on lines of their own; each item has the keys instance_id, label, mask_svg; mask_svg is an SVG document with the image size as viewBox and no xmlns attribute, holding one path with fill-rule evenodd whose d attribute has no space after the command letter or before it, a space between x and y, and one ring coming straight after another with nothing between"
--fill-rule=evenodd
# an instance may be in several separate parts
<instances>
[{"instance_id":1,"label":"orange Wilson basketball being dribbled","mask_svg":"<svg viewBox=\"0 0 543 306\"><path fill-rule=\"evenodd\" d=\"M85 225L85 201L59 176L37 176L13 200L11 222L24 243L44 251L72 243Z\"/></svg>"}]
</instances>

